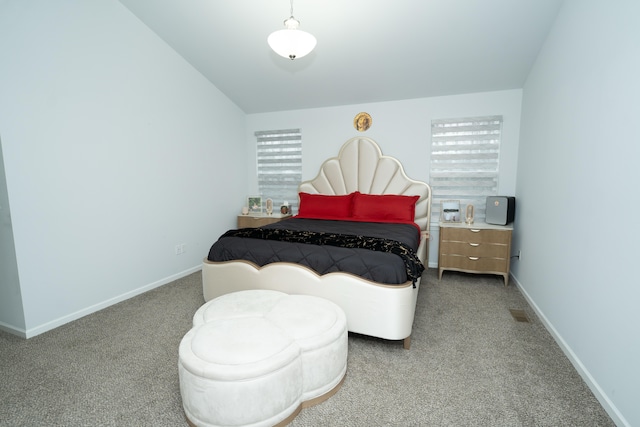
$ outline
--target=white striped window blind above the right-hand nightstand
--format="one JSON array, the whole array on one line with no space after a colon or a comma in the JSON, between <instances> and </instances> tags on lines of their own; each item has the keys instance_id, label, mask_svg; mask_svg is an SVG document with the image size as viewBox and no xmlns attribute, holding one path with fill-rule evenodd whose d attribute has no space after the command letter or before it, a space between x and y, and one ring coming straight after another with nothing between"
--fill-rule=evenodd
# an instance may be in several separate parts
<instances>
[{"instance_id":1,"label":"white striped window blind above the right-hand nightstand","mask_svg":"<svg viewBox=\"0 0 640 427\"><path fill-rule=\"evenodd\" d=\"M483 221L487 196L498 193L502 116L431 122L432 224L440 220L443 200L459 200L461 220L472 204Z\"/></svg>"}]
</instances>

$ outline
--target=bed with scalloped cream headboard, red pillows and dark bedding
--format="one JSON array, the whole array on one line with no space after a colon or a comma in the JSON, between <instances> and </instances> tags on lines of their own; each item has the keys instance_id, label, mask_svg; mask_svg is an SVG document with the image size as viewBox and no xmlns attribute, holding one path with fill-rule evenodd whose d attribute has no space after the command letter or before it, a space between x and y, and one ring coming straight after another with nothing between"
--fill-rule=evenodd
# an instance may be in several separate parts
<instances>
[{"instance_id":1,"label":"bed with scalloped cream headboard, red pillows and dark bedding","mask_svg":"<svg viewBox=\"0 0 640 427\"><path fill-rule=\"evenodd\" d=\"M356 137L342 146L337 157L326 160L314 179L302 182L299 192L300 211L294 218L261 227L259 230L229 230L212 245L202 266L205 300L250 289L272 289L290 294L314 295L333 301L344 310L350 332L385 340L402 340L404 348L409 349L420 289L419 273L426 268L428 259L431 217L429 185L408 178L400 162L393 157L382 155L378 144L372 139ZM327 215L326 212L319 215L319 218L313 214L307 215L310 210L305 209L305 206L321 209L322 204L319 202L329 196L332 202L336 201L335 212L339 211L340 207L344 206L345 199L349 198L352 211L344 215L340 213L335 217ZM411 221L407 220L404 213L407 199L412 200ZM309 200L310 204L305 204ZM356 214L356 201L358 212L373 211L374 220L366 214L358 217L348 216ZM376 207L372 209L374 205ZM378 219L379 216L384 219ZM375 256L386 258L378 258L377 261L374 258L369 263L380 266L399 263L404 266L406 275L402 276L395 270L395 273L391 273L392 276L395 274L395 278L381 279L373 273L367 276L349 272L344 270L340 263L318 267L314 260L319 259L319 255L309 255L306 252L311 251L313 246L316 246L314 249L322 249L331 254L334 260L355 256L335 255L344 250L373 252L367 249L370 243L362 243L362 239L355 243L349 242L350 246L347 247L333 246L333 241L327 243L326 236L329 234L333 236L337 233L345 237L340 231L344 230L345 225L351 230L349 234L352 234L352 238L347 240L357 239L353 236L362 237L362 233L379 234L371 237L371 240L375 239L376 244L384 243L387 252L382 251L385 253L376 253ZM398 241L386 238L388 231L377 231L379 228L394 229L392 233L401 230L401 237ZM261 236L257 236L256 233L260 233ZM257 250L258 241L273 240L271 236L274 234L288 233L295 235L297 239L301 239L300 233L310 233L303 235L302 239L319 242L315 245L298 240L292 243L290 240L278 240L278 237L270 243L275 245L274 254L287 251L304 252L301 255L302 263L299 260L286 261L286 258L280 255L269 257L264 253L261 255L262 258L254 255L234 255L231 250L219 248L221 241L241 239L239 244L247 246L248 252L249 246ZM416 237L410 237L412 234ZM298 245L298 249L291 251L291 245ZM407 247L411 249L408 250ZM416 267L413 263L415 258L421 265ZM305 263L307 265L304 265Z\"/></svg>"}]
</instances>

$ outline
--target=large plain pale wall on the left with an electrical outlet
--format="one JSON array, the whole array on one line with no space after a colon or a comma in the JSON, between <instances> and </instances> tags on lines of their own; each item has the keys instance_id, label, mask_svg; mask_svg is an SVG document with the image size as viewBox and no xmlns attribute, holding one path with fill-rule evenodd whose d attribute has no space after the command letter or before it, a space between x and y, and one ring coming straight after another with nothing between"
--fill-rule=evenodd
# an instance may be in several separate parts
<instances>
[{"instance_id":1,"label":"large plain pale wall on the left with an electrical outlet","mask_svg":"<svg viewBox=\"0 0 640 427\"><path fill-rule=\"evenodd\" d=\"M120 3L0 2L0 93L25 317L3 309L4 329L32 336L196 271L234 225L244 114Z\"/></svg>"}]
</instances>

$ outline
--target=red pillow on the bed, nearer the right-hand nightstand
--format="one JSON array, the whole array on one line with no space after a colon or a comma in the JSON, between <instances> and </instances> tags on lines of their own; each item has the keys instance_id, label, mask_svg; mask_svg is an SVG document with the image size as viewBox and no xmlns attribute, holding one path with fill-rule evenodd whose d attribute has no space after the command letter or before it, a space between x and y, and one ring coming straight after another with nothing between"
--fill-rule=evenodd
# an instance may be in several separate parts
<instances>
[{"instance_id":1,"label":"red pillow on the bed, nearer the right-hand nightstand","mask_svg":"<svg viewBox=\"0 0 640 427\"><path fill-rule=\"evenodd\" d=\"M420 196L398 194L363 194L353 196L354 219L370 221L410 221L416 218L416 202Z\"/></svg>"}]
</instances>

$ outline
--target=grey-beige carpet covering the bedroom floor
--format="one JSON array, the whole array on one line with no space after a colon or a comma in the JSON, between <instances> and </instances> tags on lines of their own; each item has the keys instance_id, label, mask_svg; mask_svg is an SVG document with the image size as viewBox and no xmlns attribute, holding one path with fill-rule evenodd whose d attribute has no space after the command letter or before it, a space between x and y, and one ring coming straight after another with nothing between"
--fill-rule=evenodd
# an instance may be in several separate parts
<instances>
[{"instance_id":1,"label":"grey-beige carpet covering the bedroom floor","mask_svg":"<svg viewBox=\"0 0 640 427\"><path fill-rule=\"evenodd\" d=\"M29 340L0 332L0 426L186 425L177 348L202 303L195 273ZM350 335L342 388L291 425L613 425L497 276L430 269L411 344Z\"/></svg>"}]
</instances>

